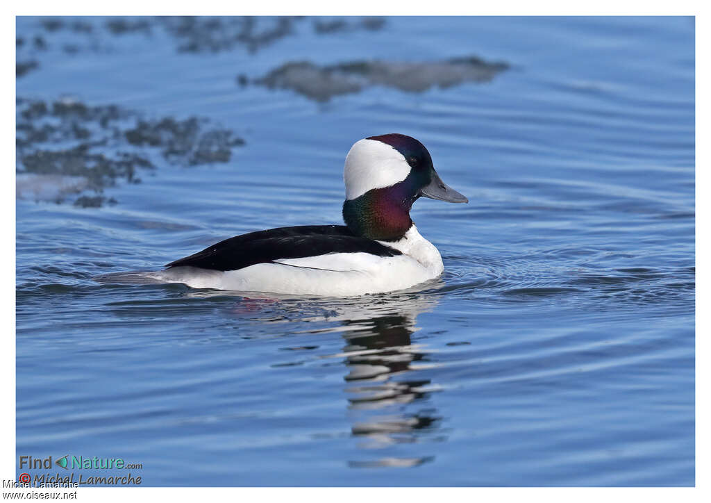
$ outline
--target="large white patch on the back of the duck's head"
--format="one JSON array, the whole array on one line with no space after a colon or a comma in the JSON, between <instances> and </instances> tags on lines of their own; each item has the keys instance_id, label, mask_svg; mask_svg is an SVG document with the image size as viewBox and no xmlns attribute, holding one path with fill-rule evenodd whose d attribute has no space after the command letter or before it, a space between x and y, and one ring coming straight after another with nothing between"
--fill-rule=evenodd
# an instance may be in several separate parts
<instances>
[{"instance_id":1,"label":"large white patch on the back of the duck's head","mask_svg":"<svg viewBox=\"0 0 711 503\"><path fill-rule=\"evenodd\" d=\"M360 139L351 147L343 167L346 199L395 185L409 174L410 164L400 152L377 139Z\"/></svg>"}]
</instances>

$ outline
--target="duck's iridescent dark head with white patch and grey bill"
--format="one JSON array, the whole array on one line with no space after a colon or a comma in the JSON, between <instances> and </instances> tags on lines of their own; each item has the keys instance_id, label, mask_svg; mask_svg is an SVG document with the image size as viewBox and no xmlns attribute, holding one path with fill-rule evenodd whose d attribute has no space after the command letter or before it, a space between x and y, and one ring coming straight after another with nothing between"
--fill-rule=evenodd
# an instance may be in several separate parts
<instances>
[{"instance_id":1,"label":"duck's iridescent dark head with white patch and grey bill","mask_svg":"<svg viewBox=\"0 0 711 503\"><path fill-rule=\"evenodd\" d=\"M355 142L346 156L343 180L343 220L351 232L370 239L400 240L412 226L410 208L420 196L469 202L439 178L424 145L405 134Z\"/></svg>"}]
</instances>

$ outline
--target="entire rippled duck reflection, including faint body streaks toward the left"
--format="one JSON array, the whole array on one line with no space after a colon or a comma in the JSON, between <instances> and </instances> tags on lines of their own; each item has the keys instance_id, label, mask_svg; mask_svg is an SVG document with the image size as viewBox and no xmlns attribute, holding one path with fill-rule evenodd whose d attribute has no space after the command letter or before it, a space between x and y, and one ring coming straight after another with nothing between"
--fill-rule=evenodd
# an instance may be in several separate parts
<instances>
[{"instance_id":1,"label":"entire rippled duck reflection, including faint body streaks toward the left","mask_svg":"<svg viewBox=\"0 0 711 503\"><path fill-rule=\"evenodd\" d=\"M444 285L434 280L428 286ZM417 316L437 305L436 290L399 292L397 294L353 297L348 300L324 299L316 302L282 300L250 295L232 307L232 313L264 314L265 308L278 306L274 317L260 319L262 327L272 323L329 322L327 329L316 333L337 333L345 339L343 351L320 358L345 359L348 372L343 376L348 396L348 416L353 421L351 434L363 439L359 447L392 450L392 456L376 460L351 460L351 467L412 467L434 460L434 455L422 456L421 448L408 444L431 442L444 438L438 435L437 411L427 407L429 395L437 389L429 378L412 378L420 374L427 358L423 344L413 344L412 334L419 328ZM189 292L191 297L224 295L221 292ZM276 314L278 313L278 314ZM289 313L289 316L287 316ZM314 349L318 346L314 346ZM408 378L410 377L410 378ZM397 452L395 452L397 450ZM407 456L410 450L412 456ZM397 455L397 456L395 456Z\"/></svg>"}]
</instances>

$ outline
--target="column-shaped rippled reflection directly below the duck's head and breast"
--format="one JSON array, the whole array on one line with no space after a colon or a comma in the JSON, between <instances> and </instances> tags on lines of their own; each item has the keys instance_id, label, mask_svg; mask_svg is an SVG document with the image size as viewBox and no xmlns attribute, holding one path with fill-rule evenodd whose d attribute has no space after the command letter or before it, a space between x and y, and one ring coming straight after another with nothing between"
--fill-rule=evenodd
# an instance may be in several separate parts
<instances>
[{"instance_id":1,"label":"column-shaped rippled reflection directly below the duck's head and breast","mask_svg":"<svg viewBox=\"0 0 711 503\"><path fill-rule=\"evenodd\" d=\"M358 313L362 317L354 312L343 319L346 346L339 356L346 357L348 410L355 416L351 432L365 439L361 447L417 443L423 434L437 430L437 411L425 406L435 386L429 378L407 378L427 354L424 346L412 344L412 334L418 330L417 315L436 304L434 296L407 295L370 306ZM422 407L413 411L413 405L419 403ZM385 457L349 465L408 467L432 459L434 456Z\"/></svg>"}]
</instances>

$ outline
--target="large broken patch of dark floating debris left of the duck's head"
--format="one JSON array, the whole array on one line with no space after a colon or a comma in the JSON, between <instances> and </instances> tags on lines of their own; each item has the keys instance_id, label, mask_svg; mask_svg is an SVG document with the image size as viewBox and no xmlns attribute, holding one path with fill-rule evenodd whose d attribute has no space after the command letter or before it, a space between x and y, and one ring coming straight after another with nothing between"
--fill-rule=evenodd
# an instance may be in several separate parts
<instances>
[{"instance_id":1,"label":"large broken patch of dark floating debris left of the duck's head","mask_svg":"<svg viewBox=\"0 0 711 503\"><path fill-rule=\"evenodd\" d=\"M102 191L119 181L137 184L139 171L155 169L156 153L171 164L228 162L244 144L229 129L208 120L165 117L144 120L116 105L90 106L76 100L17 100L17 196L96 208L115 203ZM55 190L51 190L52 188Z\"/></svg>"}]
</instances>

